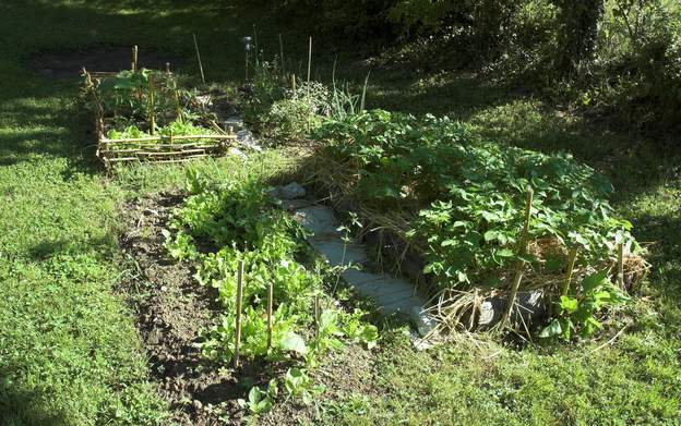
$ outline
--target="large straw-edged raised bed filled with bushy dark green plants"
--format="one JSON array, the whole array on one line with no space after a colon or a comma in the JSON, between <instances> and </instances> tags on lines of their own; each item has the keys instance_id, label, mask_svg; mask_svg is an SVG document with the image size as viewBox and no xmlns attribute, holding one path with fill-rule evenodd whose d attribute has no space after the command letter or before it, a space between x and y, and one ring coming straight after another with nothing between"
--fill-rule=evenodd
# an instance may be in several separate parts
<instances>
[{"instance_id":1,"label":"large straw-edged raised bed filled with bushy dark green plants","mask_svg":"<svg viewBox=\"0 0 681 426\"><path fill-rule=\"evenodd\" d=\"M548 322L540 337L590 336L648 268L607 202L611 185L565 154L380 110L330 120L315 137L311 180L422 283L441 330Z\"/></svg>"}]
</instances>

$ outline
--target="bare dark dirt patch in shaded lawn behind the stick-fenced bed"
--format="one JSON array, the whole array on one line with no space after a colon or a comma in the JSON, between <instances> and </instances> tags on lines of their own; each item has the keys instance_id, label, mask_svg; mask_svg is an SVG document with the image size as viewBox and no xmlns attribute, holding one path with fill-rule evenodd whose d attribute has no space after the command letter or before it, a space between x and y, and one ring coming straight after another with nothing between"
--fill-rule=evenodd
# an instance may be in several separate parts
<instances>
[{"instance_id":1,"label":"bare dark dirt patch in shaded lawn behind the stick-fenced bed","mask_svg":"<svg viewBox=\"0 0 681 426\"><path fill-rule=\"evenodd\" d=\"M165 70L166 63L177 69L184 61L170 54L160 54L140 49L140 68ZM132 50L130 47L98 47L94 49L67 52L46 52L29 59L33 70L50 77L75 77L83 66L88 71L130 70Z\"/></svg>"}]
</instances>

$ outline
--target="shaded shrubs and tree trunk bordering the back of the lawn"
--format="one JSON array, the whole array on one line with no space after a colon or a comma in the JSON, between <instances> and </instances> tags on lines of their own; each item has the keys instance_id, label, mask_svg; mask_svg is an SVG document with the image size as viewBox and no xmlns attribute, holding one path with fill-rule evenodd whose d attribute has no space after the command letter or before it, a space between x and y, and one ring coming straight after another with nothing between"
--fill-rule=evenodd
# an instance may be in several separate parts
<instances>
[{"instance_id":1,"label":"shaded shrubs and tree trunk bordering the back of the lawn","mask_svg":"<svg viewBox=\"0 0 681 426\"><path fill-rule=\"evenodd\" d=\"M619 125L650 131L681 119L679 0L274 3L318 35L393 45L394 58L426 70L483 70Z\"/></svg>"}]
</instances>

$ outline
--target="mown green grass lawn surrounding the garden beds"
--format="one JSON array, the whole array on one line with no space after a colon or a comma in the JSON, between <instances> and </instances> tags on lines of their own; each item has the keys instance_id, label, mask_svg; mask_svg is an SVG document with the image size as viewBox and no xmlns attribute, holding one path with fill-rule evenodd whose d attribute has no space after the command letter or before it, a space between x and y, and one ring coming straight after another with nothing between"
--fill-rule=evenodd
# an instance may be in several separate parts
<instances>
[{"instance_id":1,"label":"mown green grass lawn surrounding the garden beds","mask_svg":"<svg viewBox=\"0 0 681 426\"><path fill-rule=\"evenodd\" d=\"M77 81L33 73L29 57L136 44L191 58L196 32L206 76L237 81L240 37L253 23L272 27L259 12L214 1L0 4L0 424L164 424L166 413L116 291L129 273L117 235L123 200L178 185L182 168L106 178L73 102ZM276 51L274 40L274 32L263 34L261 44ZM347 75L361 80L365 71L355 64ZM517 350L463 340L416 353L404 330L386 328L372 372L377 392L322 401L320 423L678 424L680 150L461 75L374 71L368 99L371 107L450 113L500 143L572 151L612 179L617 208L640 241L654 243L654 268L641 297L598 341ZM254 167L278 167L272 156Z\"/></svg>"}]
</instances>

